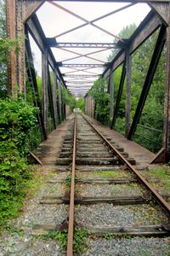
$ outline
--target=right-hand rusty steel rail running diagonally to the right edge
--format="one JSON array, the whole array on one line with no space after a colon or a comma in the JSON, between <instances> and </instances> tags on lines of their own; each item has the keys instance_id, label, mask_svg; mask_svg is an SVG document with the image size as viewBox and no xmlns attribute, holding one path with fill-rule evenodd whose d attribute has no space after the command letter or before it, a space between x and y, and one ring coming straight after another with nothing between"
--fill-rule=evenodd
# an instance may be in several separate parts
<instances>
[{"instance_id":1,"label":"right-hand rusty steel rail running diagonally to the right edge","mask_svg":"<svg viewBox=\"0 0 170 256\"><path fill-rule=\"evenodd\" d=\"M162 196L156 191L156 189L154 189L150 183L148 183L144 177L142 177L142 175L140 175L140 173L122 156L122 154L116 150L116 148L113 147L113 145L111 145L111 143L99 132L99 130L94 127L94 125L92 125L90 123L90 121L84 117L84 115L82 115L82 117L87 120L88 124L91 125L91 127L94 128L94 131L96 131L99 134L99 137L101 137L105 143L114 151L114 153L116 154L116 156L130 169L130 171L132 171L133 173L135 173L135 175L137 176L138 180L140 183L143 183L144 186L150 190L151 195L153 195L153 197L155 198L155 200L161 205L161 207L163 207L167 213L170 213L170 205L167 203L167 201L165 201Z\"/></svg>"}]
</instances>

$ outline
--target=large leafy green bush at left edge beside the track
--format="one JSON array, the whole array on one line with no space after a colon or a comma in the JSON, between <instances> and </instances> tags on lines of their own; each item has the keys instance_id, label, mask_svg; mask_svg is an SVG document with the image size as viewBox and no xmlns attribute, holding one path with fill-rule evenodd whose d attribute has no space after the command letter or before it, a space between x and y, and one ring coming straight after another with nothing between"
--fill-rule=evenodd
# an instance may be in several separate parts
<instances>
[{"instance_id":1,"label":"large leafy green bush at left edge beside the track","mask_svg":"<svg viewBox=\"0 0 170 256\"><path fill-rule=\"evenodd\" d=\"M0 99L0 224L16 216L26 195L31 170L26 165L27 135L37 122L37 108L22 97Z\"/></svg>"}]
</instances>

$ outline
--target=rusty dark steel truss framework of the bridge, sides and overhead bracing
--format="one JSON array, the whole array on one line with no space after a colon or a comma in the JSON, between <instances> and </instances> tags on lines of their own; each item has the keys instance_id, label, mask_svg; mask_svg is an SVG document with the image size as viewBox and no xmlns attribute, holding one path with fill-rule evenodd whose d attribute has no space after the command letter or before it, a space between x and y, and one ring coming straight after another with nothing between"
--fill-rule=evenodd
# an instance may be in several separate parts
<instances>
[{"instance_id":1,"label":"rusty dark steel truss framework of the bridge, sides and overhead bracing","mask_svg":"<svg viewBox=\"0 0 170 256\"><path fill-rule=\"evenodd\" d=\"M43 32L42 25L37 18L37 9L39 9L46 1L38 0L6 0L7 3L7 24L8 37L17 38L20 34L26 35L25 43L22 46L20 55L10 53L8 61L8 84L9 91L13 94L15 85L18 84L19 91L26 95L26 73L31 84L32 93L34 96L34 103L41 109L39 113L39 123L42 127L43 137L48 137L48 114L50 113L53 120L54 127L59 122L65 119L65 102L62 96L62 87L65 87L75 96L84 96L86 99L86 111L93 115L92 106L94 103L88 91L94 84L94 80L99 77L106 77L109 80L108 91L111 96L111 128L116 124L116 116L122 97L122 88L126 79L126 124L125 134L127 139L132 139L133 134L139 124L139 119L144 108L144 103L148 96L150 85L156 73L156 67L161 57L161 52L164 44L167 44L167 63L166 63L166 94L165 94L165 109L164 109L164 137L160 154L157 155L156 160L170 159L170 3L169 0L119 0L119 3L127 3L122 8L114 9L107 14L100 15L94 20L85 19L81 15L71 9L65 8L59 1L47 1L54 8L62 10L68 15L81 20L81 25L72 27L63 32L54 35L53 38L46 37ZM73 2L67 0L67 2ZM74 0L75 2L75 0ZM114 0L76 0L77 4L81 2L110 2L116 3ZM133 32L133 35L128 38L120 38L115 33L106 30L103 26L99 26L98 21L104 20L111 15L121 13L122 10L128 9L137 3L148 3L150 5L150 13L140 23L139 27ZM61 26L59 23L58 26ZM82 27L93 26L96 31L103 32L112 38L112 42L65 42L59 39L62 36L77 32ZM156 46L151 57L150 66L146 74L143 89L139 97L138 106L131 124L131 76L132 76L132 54L139 48L145 40L150 38L154 32L159 29L159 35L156 41ZM29 34L37 43L42 52L42 102L37 87L36 71L34 68L33 56L31 53L31 44ZM113 43L113 39L115 39ZM72 54L72 57L57 60L54 57L52 49L59 49L63 52ZM80 53L78 49L88 49L88 53ZM117 49L117 54L110 62L103 61L96 57L99 53L105 53L108 49ZM85 62L81 62L86 59ZM116 107L114 105L114 84L113 74L117 67L122 65L122 76L120 79L119 90L116 96ZM53 71L54 79L53 86L50 79L50 68ZM65 73L63 69L67 69ZM100 73L99 73L100 68ZM48 113L49 112L49 113Z\"/></svg>"}]
</instances>

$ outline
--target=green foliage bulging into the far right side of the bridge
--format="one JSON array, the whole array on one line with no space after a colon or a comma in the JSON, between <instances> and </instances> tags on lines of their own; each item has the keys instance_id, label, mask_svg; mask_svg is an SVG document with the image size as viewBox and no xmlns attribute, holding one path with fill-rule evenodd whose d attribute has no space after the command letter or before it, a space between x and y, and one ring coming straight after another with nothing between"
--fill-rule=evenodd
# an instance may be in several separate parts
<instances>
[{"instance_id":1,"label":"green foliage bulging into the far right side of the bridge","mask_svg":"<svg viewBox=\"0 0 170 256\"><path fill-rule=\"evenodd\" d=\"M110 95L107 91L107 81L98 79L94 82L94 86L89 92L90 96L94 97L95 101L95 118L101 123L109 124L110 114Z\"/></svg>"}]
</instances>

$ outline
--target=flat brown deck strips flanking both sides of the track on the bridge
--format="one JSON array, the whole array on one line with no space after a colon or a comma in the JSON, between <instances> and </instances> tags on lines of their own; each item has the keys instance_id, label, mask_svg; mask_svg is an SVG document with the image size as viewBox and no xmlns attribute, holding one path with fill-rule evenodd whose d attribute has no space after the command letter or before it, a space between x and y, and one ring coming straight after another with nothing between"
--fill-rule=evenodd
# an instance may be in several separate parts
<instances>
[{"instance_id":1,"label":"flat brown deck strips flanking both sides of the track on the bridge","mask_svg":"<svg viewBox=\"0 0 170 256\"><path fill-rule=\"evenodd\" d=\"M105 125L101 125L95 119L89 118L94 125L97 125L99 131L103 131L105 134L108 134L113 140L122 148L124 151L129 154L129 157L132 157L136 160L136 168L144 169L150 164L150 161L153 159L155 154L151 153L146 148L141 147L139 144L134 143L133 141L128 141L125 137L119 134L116 131L111 130ZM41 143L37 150L37 156L42 160L42 164L54 166L56 158L59 154L59 149L62 147L62 137L65 135L66 131L69 128L70 120L73 118L73 115L70 115L65 121L57 126L57 129L50 133L48 140Z\"/></svg>"}]
</instances>

